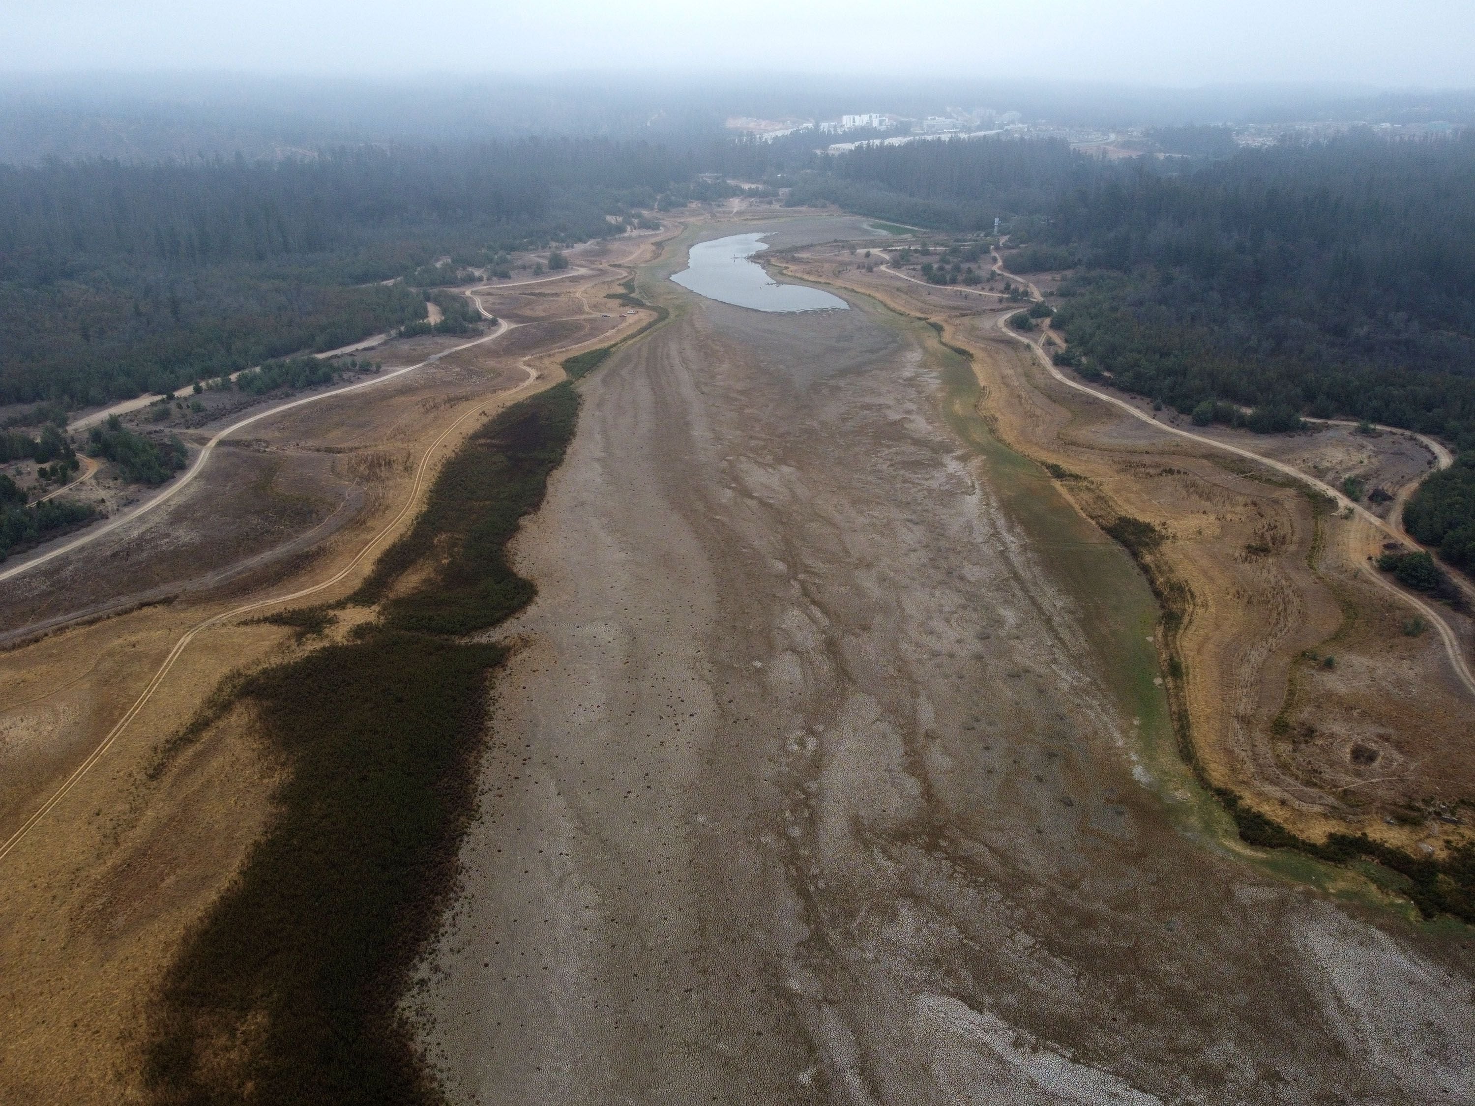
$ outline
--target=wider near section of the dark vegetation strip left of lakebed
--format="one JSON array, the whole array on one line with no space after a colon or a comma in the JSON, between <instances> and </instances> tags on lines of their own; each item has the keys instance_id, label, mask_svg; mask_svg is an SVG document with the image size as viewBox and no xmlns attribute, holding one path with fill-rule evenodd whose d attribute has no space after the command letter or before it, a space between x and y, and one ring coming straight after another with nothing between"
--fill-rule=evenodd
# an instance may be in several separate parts
<instances>
[{"instance_id":1,"label":"wider near section of the dark vegetation strip left of lakebed","mask_svg":"<svg viewBox=\"0 0 1475 1106\"><path fill-rule=\"evenodd\" d=\"M391 631L245 684L288 783L170 972L146 1066L158 1100L435 1099L395 998L454 877L500 656Z\"/></svg>"}]
</instances>

